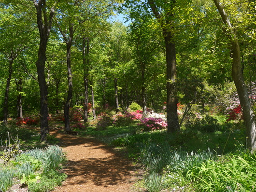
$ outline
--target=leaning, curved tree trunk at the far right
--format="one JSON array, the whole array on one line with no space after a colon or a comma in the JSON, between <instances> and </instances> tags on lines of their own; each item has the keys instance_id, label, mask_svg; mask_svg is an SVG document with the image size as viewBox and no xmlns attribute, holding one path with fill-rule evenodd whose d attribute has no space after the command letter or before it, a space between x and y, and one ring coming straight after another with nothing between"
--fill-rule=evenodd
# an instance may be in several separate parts
<instances>
[{"instance_id":1,"label":"leaning, curved tree trunk at the far right","mask_svg":"<svg viewBox=\"0 0 256 192\"><path fill-rule=\"evenodd\" d=\"M243 118L246 126L246 136L247 145L250 147L251 151L256 150L256 123L254 119L254 113L251 108L251 102L248 95L248 90L246 84L243 80L242 68L241 68L241 51L239 46L239 41L237 40L235 31L228 19L228 14L226 14L224 7L219 0L213 0L219 14L222 17L223 23L229 28L229 33L226 34L232 45L232 79L235 82L240 104L242 107Z\"/></svg>"}]
</instances>

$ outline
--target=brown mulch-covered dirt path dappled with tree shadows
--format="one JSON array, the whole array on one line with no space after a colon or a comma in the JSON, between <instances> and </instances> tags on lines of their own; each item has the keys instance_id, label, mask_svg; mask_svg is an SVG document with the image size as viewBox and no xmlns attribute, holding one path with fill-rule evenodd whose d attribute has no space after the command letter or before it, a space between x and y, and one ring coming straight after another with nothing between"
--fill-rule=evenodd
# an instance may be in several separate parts
<instances>
[{"instance_id":1,"label":"brown mulch-covered dirt path dappled with tree shadows","mask_svg":"<svg viewBox=\"0 0 256 192\"><path fill-rule=\"evenodd\" d=\"M51 132L67 153L67 180L54 192L130 192L135 167L99 140Z\"/></svg>"}]
</instances>

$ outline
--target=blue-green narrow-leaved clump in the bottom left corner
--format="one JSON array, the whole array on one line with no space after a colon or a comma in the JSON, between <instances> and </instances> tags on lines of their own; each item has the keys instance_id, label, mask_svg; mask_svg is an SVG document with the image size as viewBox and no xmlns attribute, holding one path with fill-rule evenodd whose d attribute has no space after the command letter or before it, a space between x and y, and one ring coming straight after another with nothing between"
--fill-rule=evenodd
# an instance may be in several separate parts
<instances>
[{"instance_id":1,"label":"blue-green narrow-leaved clump in the bottom left corner","mask_svg":"<svg viewBox=\"0 0 256 192\"><path fill-rule=\"evenodd\" d=\"M7 192L13 185L14 171L12 169L0 169L0 191Z\"/></svg>"}]
</instances>

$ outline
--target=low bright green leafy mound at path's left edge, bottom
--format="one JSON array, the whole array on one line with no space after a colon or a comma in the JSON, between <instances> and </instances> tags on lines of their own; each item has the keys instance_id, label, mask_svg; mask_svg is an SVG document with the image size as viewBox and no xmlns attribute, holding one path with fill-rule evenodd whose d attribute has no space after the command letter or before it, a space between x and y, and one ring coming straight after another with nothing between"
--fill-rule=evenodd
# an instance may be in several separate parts
<instances>
[{"instance_id":1,"label":"low bright green leafy mound at path's left edge, bottom","mask_svg":"<svg viewBox=\"0 0 256 192\"><path fill-rule=\"evenodd\" d=\"M30 192L48 192L54 190L55 187L60 186L67 178L64 173L59 173L55 170L50 170L42 175L39 182L29 183L28 190Z\"/></svg>"}]
</instances>

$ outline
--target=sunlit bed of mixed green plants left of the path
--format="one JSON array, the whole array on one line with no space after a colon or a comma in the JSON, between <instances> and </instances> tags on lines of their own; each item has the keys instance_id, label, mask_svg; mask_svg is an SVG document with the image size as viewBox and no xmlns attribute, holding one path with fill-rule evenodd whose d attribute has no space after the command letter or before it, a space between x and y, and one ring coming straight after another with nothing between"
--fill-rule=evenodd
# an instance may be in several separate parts
<instances>
[{"instance_id":1,"label":"sunlit bed of mixed green plants left of the path","mask_svg":"<svg viewBox=\"0 0 256 192\"><path fill-rule=\"evenodd\" d=\"M19 152L14 160L0 165L0 191L7 192L17 182L28 186L30 192L53 190L67 177L59 172L65 161L65 155L57 145Z\"/></svg>"}]
</instances>

